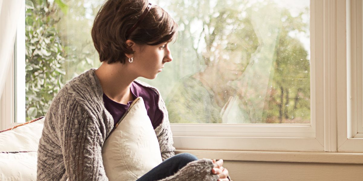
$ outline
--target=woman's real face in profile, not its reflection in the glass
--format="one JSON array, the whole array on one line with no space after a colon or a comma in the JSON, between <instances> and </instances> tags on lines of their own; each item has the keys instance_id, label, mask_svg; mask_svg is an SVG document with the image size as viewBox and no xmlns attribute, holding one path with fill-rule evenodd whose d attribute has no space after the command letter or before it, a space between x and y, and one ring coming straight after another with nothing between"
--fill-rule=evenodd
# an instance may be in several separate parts
<instances>
[{"instance_id":1,"label":"woman's real face in profile, not its reflection in the glass","mask_svg":"<svg viewBox=\"0 0 363 181\"><path fill-rule=\"evenodd\" d=\"M159 45L135 45L134 60L132 63L126 62L132 67L138 77L155 79L164 68L166 62L173 58L168 43Z\"/></svg>"}]
</instances>

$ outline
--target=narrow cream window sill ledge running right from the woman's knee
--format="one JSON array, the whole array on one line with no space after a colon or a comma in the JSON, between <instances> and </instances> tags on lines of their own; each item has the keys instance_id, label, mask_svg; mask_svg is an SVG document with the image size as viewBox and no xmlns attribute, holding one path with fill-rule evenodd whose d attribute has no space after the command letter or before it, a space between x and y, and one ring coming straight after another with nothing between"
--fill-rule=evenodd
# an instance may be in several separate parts
<instances>
[{"instance_id":1,"label":"narrow cream window sill ledge running right from the woman's knee","mask_svg":"<svg viewBox=\"0 0 363 181\"><path fill-rule=\"evenodd\" d=\"M198 158L223 159L225 161L363 164L363 153L220 150L176 150L175 153L184 152L196 155Z\"/></svg>"}]
</instances>

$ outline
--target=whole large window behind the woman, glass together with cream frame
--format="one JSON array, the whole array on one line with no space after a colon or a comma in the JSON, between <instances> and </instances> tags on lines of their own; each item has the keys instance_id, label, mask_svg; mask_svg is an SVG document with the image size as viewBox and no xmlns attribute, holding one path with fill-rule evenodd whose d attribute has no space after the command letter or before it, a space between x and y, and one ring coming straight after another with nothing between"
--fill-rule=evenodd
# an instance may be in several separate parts
<instances>
[{"instance_id":1,"label":"whole large window behind the woman, glass together with cream frame","mask_svg":"<svg viewBox=\"0 0 363 181\"><path fill-rule=\"evenodd\" d=\"M17 111L25 112L27 120L45 115L66 81L99 65L90 29L102 2L38 3L25 0L26 97L25 108ZM157 87L166 101L175 147L363 150L349 146L357 140L347 136L352 127L347 125L349 86L338 86L354 77L362 82L362 75L350 78L344 68L338 68L347 67L348 44L342 43L347 39L341 36L350 27L345 19L350 6L345 2L153 3L171 13L180 28L177 42L171 45L174 60L155 80L142 79ZM359 15L359 8L356 12ZM360 27L361 32L362 18L357 17L356 30ZM361 39L357 45L362 45ZM18 74L16 78L20 79ZM359 88L351 89L362 97ZM358 104L352 104L354 113L353 109L363 112ZM358 133L363 121L352 120Z\"/></svg>"}]
</instances>

